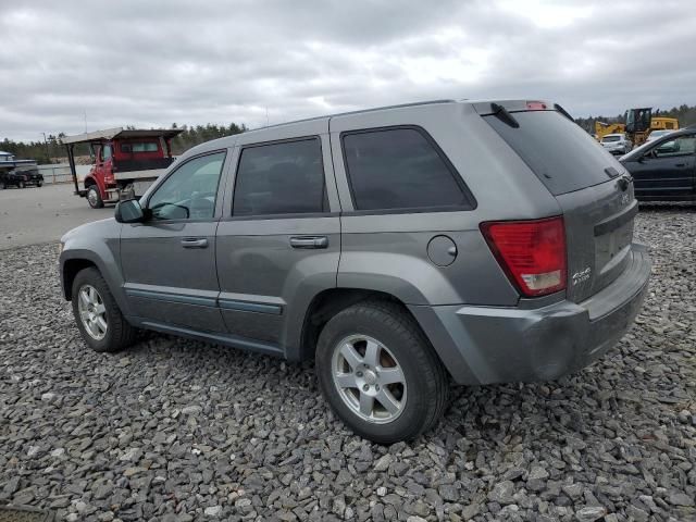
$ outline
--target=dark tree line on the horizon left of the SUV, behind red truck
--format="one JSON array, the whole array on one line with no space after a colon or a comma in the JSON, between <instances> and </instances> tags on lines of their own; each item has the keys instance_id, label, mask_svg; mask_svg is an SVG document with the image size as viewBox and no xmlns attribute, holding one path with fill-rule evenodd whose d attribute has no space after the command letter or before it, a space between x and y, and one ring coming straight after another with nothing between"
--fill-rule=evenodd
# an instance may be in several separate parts
<instances>
[{"instance_id":1,"label":"dark tree line on the horizon left of the SUV, behind red truck","mask_svg":"<svg viewBox=\"0 0 696 522\"><path fill-rule=\"evenodd\" d=\"M133 125L128 125L128 129L134 129ZM171 128L181 128L182 133L172 139L172 153L178 156L184 153L191 147L210 141L211 139L223 138L234 134L240 134L247 130L245 124L238 125L231 123L229 125L215 125L209 123L207 125L177 125L172 124ZM4 138L0 141L0 150L14 154L17 159L35 160L39 164L60 163L65 161L65 147L63 138L65 133L58 135L47 135L45 140L36 141L13 141ZM89 146L80 144L75 147L75 156L89 156Z\"/></svg>"}]
</instances>

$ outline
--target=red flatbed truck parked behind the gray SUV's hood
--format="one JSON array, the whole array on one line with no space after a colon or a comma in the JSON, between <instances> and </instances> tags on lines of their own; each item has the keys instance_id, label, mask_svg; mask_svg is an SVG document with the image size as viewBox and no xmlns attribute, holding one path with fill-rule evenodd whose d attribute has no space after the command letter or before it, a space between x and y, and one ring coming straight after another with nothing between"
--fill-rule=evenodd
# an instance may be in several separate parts
<instances>
[{"instance_id":1,"label":"red flatbed truck parked behind the gray SUV's hood","mask_svg":"<svg viewBox=\"0 0 696 522\"><path fill-rule=\"evenodd\" d=\"M65 136L75 195L87 198L92 209L121 199L141 196L142 192L169 167L172 157L172 138L178 128L124 129L121 127L94 133ZM94 163L79 187L75 169L75 146L89 144Z\"/></svg>"}]
</instances>

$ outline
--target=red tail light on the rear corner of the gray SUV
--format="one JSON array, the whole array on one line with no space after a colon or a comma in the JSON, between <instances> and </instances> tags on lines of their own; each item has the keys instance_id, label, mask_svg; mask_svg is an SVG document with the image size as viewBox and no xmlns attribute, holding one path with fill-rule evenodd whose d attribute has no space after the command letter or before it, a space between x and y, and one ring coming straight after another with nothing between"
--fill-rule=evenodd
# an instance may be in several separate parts
<instances>
[{"instance_id":1,"label":"red tail light on the rear corner of the gray SUV","mask_svg":"<svg viewBox=\"0 0 696 522\"><path fill-rule=\"evenodd\" d=\"M563 219L498 221L481 224L490 250L525 297L566 288Z\"/></svg>"}]
</instances>

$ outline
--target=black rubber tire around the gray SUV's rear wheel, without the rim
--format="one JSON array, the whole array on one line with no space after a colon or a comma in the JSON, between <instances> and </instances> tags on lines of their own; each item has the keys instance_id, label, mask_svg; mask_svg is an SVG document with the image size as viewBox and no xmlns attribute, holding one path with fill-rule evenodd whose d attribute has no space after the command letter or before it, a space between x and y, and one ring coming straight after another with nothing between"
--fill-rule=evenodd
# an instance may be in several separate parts
<instances>
[{"instance_id":1,"label":"black rubber tire around the gray SUV's rear wheel, without the rim","mask_svg":"<svg viewBox=\"0 0 696 522\"><path fill-rule=\"evenodd\" d=\"M334 350L353 335L377 340L393 353L402 371L408 393L403 410L393 421L376 424L361 418L334 383ZM355 433L377 444L417 438L437 424L447 406L447 371L408 311L395 302L364 301L332 318L319 337L315 371L319 386L336 415Z\"/></svg>"}]
</instances>

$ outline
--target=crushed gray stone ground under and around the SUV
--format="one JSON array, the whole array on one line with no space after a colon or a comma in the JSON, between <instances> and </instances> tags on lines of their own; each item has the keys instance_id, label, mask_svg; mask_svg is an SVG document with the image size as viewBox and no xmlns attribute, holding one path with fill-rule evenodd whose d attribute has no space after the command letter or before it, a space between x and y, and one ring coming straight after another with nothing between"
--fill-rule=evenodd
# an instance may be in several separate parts
<instances>
[{"instance_id":1,"label":"crushed gray stone ground under and around the SUV","mask_svg":"<svg viewBox=\"0 0 696 522\"><path fill-rule=\"evenodd\" d=\"M382 447L328 412L312 364L160 335L99 355L54 245L0 252L0 506L59 520L696 520L696 209L647 207L654 276L602 360L453 388ZM602 518L604 517L604 518Z\"/></svg>"}]
</instances>

